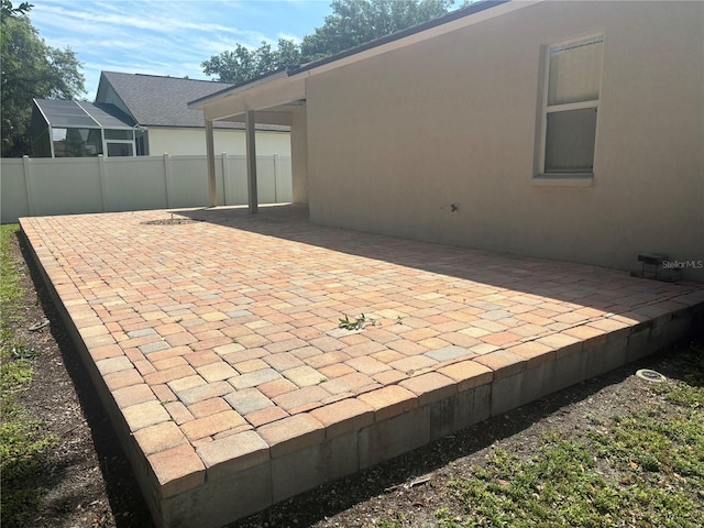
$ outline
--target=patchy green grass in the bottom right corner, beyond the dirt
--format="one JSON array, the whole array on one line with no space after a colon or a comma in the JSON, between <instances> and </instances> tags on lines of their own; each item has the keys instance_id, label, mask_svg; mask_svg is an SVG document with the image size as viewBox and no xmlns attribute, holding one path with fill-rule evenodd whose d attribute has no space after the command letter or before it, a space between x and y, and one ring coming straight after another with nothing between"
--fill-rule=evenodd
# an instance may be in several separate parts
<instances>
[{"instance_id":1,"label":"patchy green grass in the bottom right corner, beyond the dirt","mask_svg":"<svg viewBox=\"0 0 704 528\"><path fill-rule=\"evenodd\" d=\"M548 435L525 461L495 449L471 477L449 483L463 507L439 508L438 526L701 526L704 354L690 350L675 361L685 381L653 386L659 404L614 416L605 431Z\"/></svg>"}]
</instances>

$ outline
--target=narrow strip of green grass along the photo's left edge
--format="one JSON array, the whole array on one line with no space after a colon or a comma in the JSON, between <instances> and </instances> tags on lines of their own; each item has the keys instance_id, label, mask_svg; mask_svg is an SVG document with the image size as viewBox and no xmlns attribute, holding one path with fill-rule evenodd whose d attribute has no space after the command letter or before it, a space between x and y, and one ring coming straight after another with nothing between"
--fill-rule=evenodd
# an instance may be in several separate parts
<instances>
[{"instance_id":1,"label":"narrow strip of green grass along the photo's left edge","mask_svg":"<svg viewBox=\"0 0 704 528\"><path fill-rule=\"evenodd\" d=\"M18 393L26 391L32 381L32 359L37 355L12 330L14 324L26 323L22 320L23 263L10 252L18 230L18 224L0 227L0 479L2 524L9 527L25 526L26 517L36 509L44 491L26 483L56 442L16 403Z\"/></svg>"}]
</instances>

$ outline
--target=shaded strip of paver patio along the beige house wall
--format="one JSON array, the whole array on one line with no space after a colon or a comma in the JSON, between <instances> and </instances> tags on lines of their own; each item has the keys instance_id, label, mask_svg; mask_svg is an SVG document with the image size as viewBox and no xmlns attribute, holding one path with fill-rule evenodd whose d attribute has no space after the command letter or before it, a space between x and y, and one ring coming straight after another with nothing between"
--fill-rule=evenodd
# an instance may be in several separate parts
<instances>
[{"instance_id":1,"label":"shaded strip of paver patio along the beige house wall","mask_svg":"<svg viewBox=\"0 0 704 528\"><path fill-rule=\"evenodd\" d=\"M701 285L691 283L671 284L634 278L626 271L601 266L316 226L309 222L305 205L260 207L257 215L250 215L246 208L228 207L173 212L197 221L382 261L428 274L471 280L491 288L481 292L481 295L466 295L468 306L483 310L497 309L502 302L493 304L491 300L475 300L472 297L501 296L507 290L566 304L562 307L563 311L570 311L568 307L584 307L613 315L630 314L635 308L656 305L701 289ZM294 262L290 264L295 266ZM369 273L362 270L356 272L360 275ZM422 274L421 278L430 279ZM529 298L514 300L531 304ZM664 309L646 309L641 315L658 316ZM561 328L556 326L554 329Z\"/></svg>"}]
</instances>

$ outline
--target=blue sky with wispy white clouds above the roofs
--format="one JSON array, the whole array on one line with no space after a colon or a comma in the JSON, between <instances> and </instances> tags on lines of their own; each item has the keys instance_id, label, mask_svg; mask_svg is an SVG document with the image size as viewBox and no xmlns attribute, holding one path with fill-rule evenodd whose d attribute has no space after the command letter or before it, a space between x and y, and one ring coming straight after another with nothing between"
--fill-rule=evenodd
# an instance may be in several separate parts
<instances>
[{"instance_id":1,"label":"blue sky with wispy white clouds above the roofs","mask_svg":"<svg viewBox=\"0 0 704 528\"><path fill-rule=\"evenodd\" d=\"M19 1L15 3L20 3ZM237 43L299 42L323 24L329 0L33 0L30 20L52 47L82 63L87 99L100 72L207 79L200 64Z\"/></svg>"}]
</instances>

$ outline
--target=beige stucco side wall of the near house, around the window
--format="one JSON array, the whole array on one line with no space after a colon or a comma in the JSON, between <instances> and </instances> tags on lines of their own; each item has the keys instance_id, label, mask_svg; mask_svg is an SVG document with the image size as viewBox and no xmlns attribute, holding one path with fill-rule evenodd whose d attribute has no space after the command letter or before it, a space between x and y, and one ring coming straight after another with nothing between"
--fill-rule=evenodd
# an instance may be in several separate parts
<instances>
[{"instance_id":1,"label":"beige stucco side wall of the near house, around the window","mask_svg":"<svg viewBox=\"0 0 704 528\"><path fill-rule=\"evenodd\" d=\"M594 185L537 186L546 46L594 33ZM312 76L310 218L617 268L704 260L703 50L703 2L549 1Z\"/></svg>"}]
</instances>

